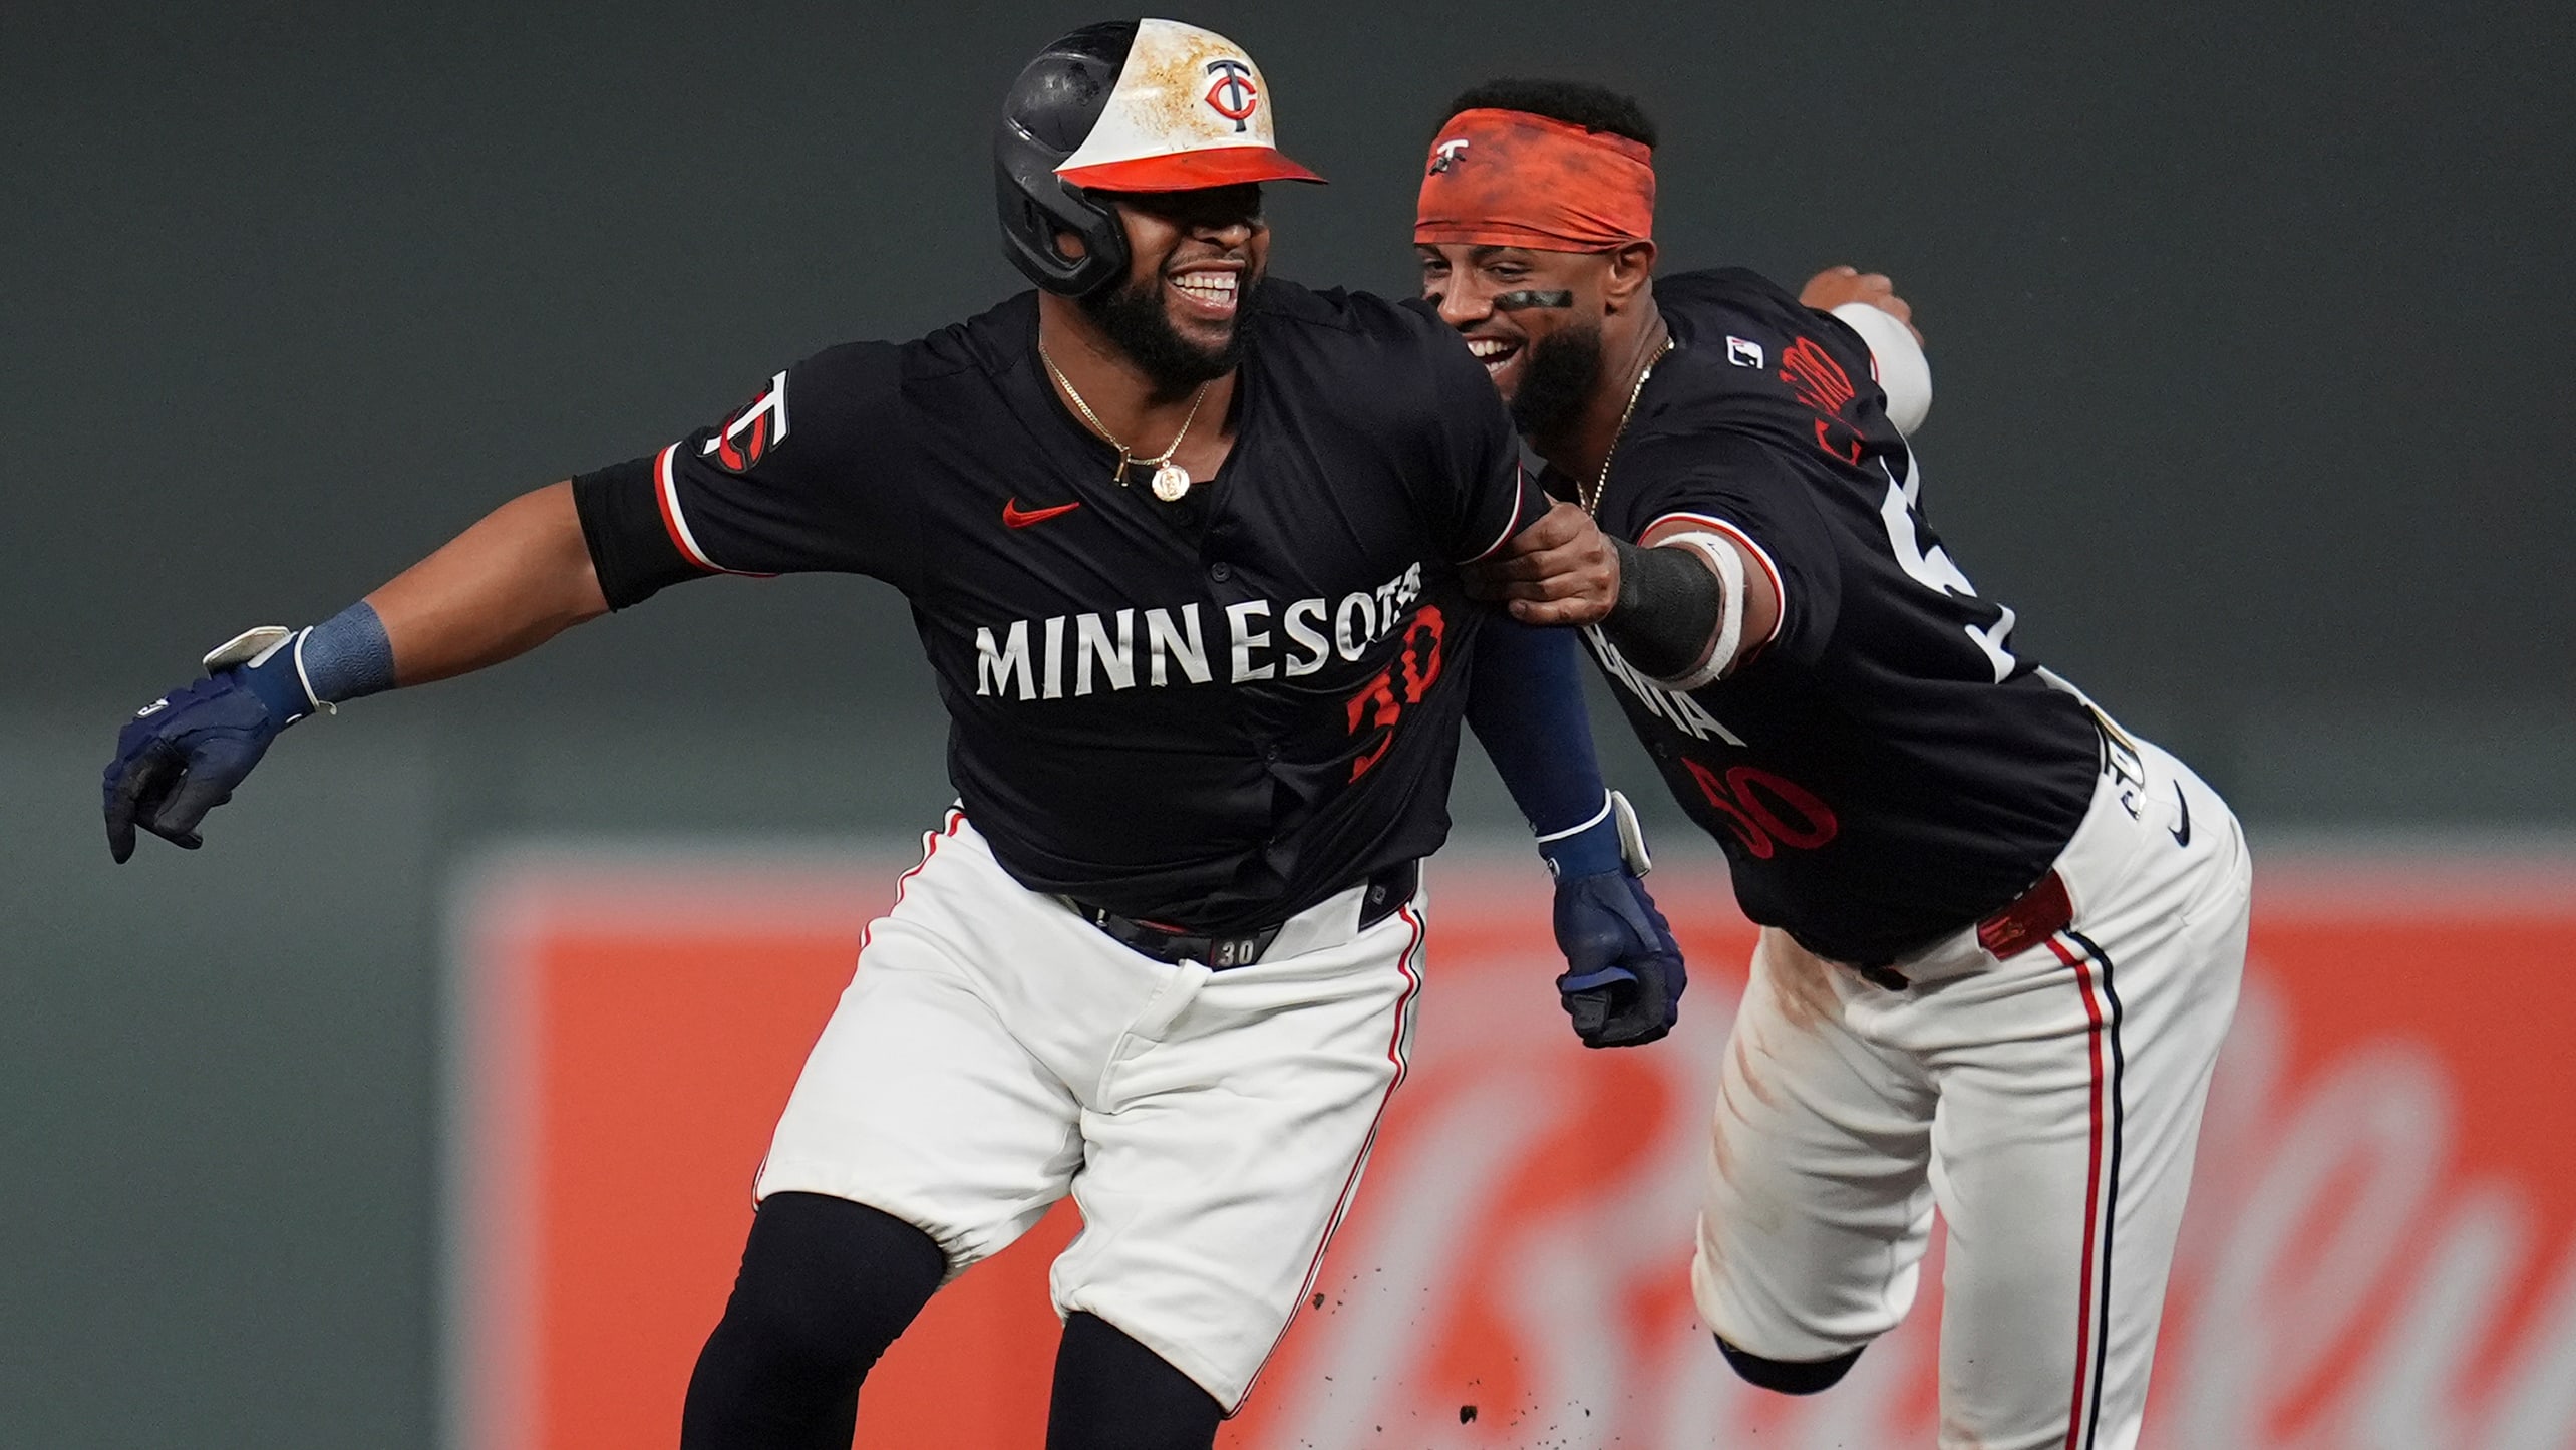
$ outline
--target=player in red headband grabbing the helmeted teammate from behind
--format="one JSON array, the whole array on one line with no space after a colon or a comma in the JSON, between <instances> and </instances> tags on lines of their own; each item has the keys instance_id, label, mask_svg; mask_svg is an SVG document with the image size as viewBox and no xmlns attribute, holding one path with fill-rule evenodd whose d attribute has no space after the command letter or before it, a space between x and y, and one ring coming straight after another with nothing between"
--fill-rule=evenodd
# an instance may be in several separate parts
<instances>
[{"instance_id":1,"label":"player in red headband grabbing the helmeted teammate from behind","mask_svg":"<svg viewBox=\"0 0 2576 1450\"><path fill-rule=\"evenodd\" d=\"M2040 670L1924 523L1929 371L1886 278L1819 312L1654 278L1654 129L1494 82L1432 142L1422 291L1561 502L1492 569L1574 623L1762 925L1692 1290L1814 1393L1950 1226L1940 1442L2138 1437L2249 858L2190 767ZM1595 523L1597 520L1597 523Z\"/></svg>"}]
</instances>

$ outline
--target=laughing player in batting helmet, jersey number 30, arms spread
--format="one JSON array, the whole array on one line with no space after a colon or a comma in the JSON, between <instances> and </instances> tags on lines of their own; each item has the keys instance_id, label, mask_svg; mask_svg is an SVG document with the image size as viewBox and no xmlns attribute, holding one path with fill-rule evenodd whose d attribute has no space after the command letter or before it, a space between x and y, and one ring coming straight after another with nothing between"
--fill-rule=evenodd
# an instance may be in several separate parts
<instances>
[{"instance_id":1,"label":"laughing player in batting helmet, jersey number 30, arms spread","mask_svg":"<svg viewBox=\"0 0 2576 1450\"><path fill-rule=\"evenodd\" d=\"M1463 592L1543 507L1510 417L1430 309L1267 281L1265 180L1316 178L1239 46L1074 31L997 134L1036 294L783 368L322 626L240 636L124 731L118 860L137 827L193 847L286 724L667 585L904 590L958 809L778 1123L690 1450L850 1445L878 1352L1066 1192L1048 1445L1211 1445L1404 1079L1461 713L1540 827L1577 1030L1672 1025L1682 963L1574 646Z\"/></svg>"}]
</instances>

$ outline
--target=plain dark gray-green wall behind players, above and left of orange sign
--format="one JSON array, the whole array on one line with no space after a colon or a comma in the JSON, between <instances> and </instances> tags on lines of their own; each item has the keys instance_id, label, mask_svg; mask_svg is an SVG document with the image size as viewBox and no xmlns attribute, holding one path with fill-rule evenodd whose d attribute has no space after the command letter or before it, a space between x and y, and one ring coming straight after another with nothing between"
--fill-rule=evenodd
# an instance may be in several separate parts
<instances>
[{"instance_id":1,"label":"plain dark gray-green wall behind players, above and left of orange sign","mask_svg":"<svg viewBox=\"0 0 2576 1450\"><path fill-rule=\"evenodd\" d=\"M214 641L1018 286L987 124L1092 15L598 10L0 8L0 1445L430 1445L451 865L945 798L889 590L714 582L301 726L209 850L108 865L116 721ZM2566 5L1185 18L1337 180L1275 196L1283 276L1406 286L1463 82L1631 88L1669 265L1896 273L1953 551L2259 837L2576 822Z\"/></svg>"}]
</instances>

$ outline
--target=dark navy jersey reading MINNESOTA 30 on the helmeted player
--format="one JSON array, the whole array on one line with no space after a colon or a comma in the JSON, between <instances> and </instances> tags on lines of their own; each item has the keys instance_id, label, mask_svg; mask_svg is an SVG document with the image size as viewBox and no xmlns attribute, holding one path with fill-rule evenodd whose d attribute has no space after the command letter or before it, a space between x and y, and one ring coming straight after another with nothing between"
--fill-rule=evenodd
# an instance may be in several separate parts
<instances>
[{"instance_id":1,"label":"dark navy jersey reading MINNESOTA 30 on the helmeted player","mask_svg":"<svg viewBox=\"0 0 2576 1450\"><path fill-rule=\"evenodd\" d=\"M1437 319L1267 281L1234 448L1159 502L1041 368L1036 294L829 348L649 458L574 479L611 605L714 572L886 579L948 770L1028 889L1221 932L1448 834L1481 610L1455 564L1546 507Z\"/></svg>"}]
</instances>

